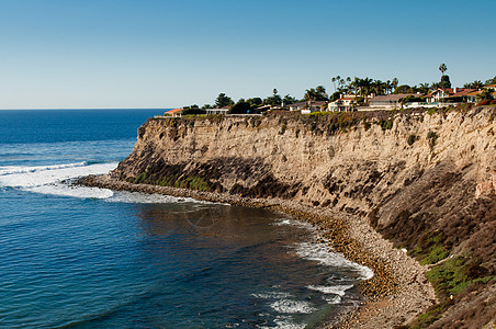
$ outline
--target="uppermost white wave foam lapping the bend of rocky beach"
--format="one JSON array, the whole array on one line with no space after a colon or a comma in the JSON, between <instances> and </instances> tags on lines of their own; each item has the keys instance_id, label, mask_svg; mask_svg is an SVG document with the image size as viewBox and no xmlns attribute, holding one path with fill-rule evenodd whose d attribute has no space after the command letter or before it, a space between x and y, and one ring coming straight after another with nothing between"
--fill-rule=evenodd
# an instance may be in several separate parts
<instances>
[{"instance_id":1,"label":"uppermost white wave foam lapping the bend of rocky beach","mask_svg":"<svg viewBox=\"0 0 496 329\"><path fill-rule=\"evenodd\" d=\"M329 250L329 247L325 243L297 243L296 254L302 258L318 261L323 265L354 270L360 273L361 280L369 280L374 276L374 272L371 269L347 260L341 253Z\"/></svg>"}]
</instances>

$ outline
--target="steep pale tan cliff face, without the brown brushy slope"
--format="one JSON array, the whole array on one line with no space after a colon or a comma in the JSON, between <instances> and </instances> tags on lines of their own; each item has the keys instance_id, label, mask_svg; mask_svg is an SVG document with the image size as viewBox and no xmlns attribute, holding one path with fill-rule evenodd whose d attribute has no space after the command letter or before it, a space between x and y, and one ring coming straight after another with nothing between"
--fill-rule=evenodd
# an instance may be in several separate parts
<instances>
[{"instance_id":1,"label":"steep pale tan cliff face, without the brown brushy slope","mask_svg":"<svg viewBox=\"0 0 496 329\"><path fill-rule=\"evenodd\" d=\"M390 203L379 220L387 225L427 182L464 184L471 198L494 193L493 112L388 113L390 129L369 114L346 132L331 132L326 117L150 118L115 173L156 184L195 177L213 191L364 214Z\"/></svg>"}]
</instances>

